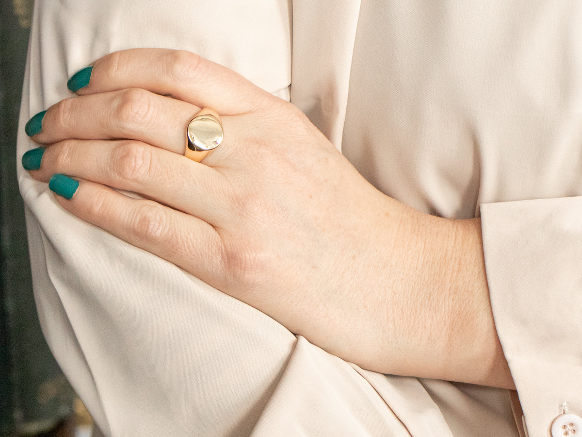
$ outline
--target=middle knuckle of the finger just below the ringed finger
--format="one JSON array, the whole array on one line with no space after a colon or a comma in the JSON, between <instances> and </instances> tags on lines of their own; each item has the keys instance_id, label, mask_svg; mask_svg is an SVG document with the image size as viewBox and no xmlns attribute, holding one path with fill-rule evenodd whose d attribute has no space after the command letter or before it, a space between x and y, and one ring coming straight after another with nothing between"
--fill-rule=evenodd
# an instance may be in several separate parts
<instances>
[{"instance_id":1,"label":"middle knuckle of the finger just below the ringed finger","mask_svg":"<svg viewBox=\"0 0 582 437\"><path fill-rule=\"evenodd\" d=\"M112 153L112 177L139 183L151 173L152 148L132 140L120 142Z\"/></svg>"}]
</instances>

